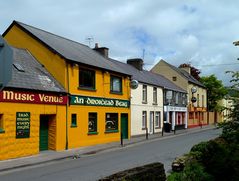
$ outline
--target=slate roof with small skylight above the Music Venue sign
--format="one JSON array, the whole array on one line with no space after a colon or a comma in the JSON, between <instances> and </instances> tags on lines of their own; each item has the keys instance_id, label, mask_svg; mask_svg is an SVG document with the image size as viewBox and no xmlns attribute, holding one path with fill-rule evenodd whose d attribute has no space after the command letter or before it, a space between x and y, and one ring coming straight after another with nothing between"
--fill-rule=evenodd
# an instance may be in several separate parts
<instances>
[{"instance_id":1,"label":"slate roof with small skylight above the Music Venue sign","mask_svg":"<svg viewBox=\"0 0 239 181\"><path fill-rule=\"evenodd\" d=\"M65 93L65 89L25 49L13 48L12 80L6 88Z\"/></svg>"}]
</instances>

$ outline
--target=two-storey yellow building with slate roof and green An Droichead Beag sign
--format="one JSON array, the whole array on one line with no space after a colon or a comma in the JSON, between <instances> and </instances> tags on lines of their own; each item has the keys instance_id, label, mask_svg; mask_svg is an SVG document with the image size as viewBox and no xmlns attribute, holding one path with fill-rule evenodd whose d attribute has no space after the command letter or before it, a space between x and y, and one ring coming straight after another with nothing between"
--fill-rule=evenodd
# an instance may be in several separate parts
<instances>
[{"instance_id":1,"label":"two-storey yellow building with slate roof and green An Droichead Beag sign","mask_svg":"<svg viewBox=\"0 0 239 181\"><path fill-rule=\"evenodd\" d=\"M67 90L66 149L119 141L121 132L129 138L130 76L109 60L107 48L92 50L16 21L3 36L30 51Z\"/></svg>"}]
</instances>

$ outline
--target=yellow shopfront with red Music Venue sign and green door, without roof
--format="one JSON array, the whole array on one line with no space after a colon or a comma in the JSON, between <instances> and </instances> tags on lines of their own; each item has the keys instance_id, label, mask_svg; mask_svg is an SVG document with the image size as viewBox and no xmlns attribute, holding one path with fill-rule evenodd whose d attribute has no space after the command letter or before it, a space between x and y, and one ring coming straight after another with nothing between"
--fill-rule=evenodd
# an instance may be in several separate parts
<instances>
[{"instance_id":1,"label":"yellow shopfront with red Music Venue sign and green door, without roof","mask_svg":"<svg viewBox=\"0 0 239 181\"><path fill-rule=\"evenodd\" d=\"M67 96L57 93L0 92L0 160L65 147Z\"/></svg>"}]
</instances>

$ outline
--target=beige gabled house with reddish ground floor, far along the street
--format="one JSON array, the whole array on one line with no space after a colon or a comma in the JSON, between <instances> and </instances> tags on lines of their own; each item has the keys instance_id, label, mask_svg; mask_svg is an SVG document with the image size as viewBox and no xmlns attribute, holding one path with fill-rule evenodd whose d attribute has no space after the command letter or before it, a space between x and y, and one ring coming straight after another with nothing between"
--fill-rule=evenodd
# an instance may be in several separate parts
<instances>
[{"instance_id":1,"label":"beige gabled house with reddish ground floor, far along the street","mask_svg":"<svg viewBox=\"0 0 239 181\"><path fill-rule=\"evenodd\" d=\"M190 68L177 68L160 60L151 70L161 74L187 91L187 127L207 124L207 90L205 86L190 75Z\"/></svg>"}]
</instances>

